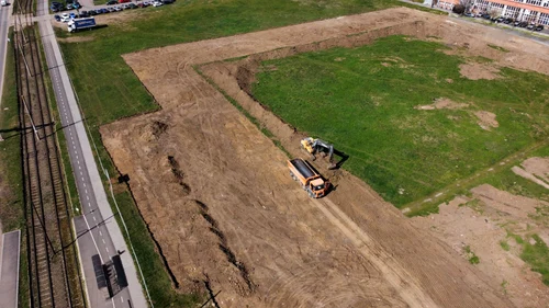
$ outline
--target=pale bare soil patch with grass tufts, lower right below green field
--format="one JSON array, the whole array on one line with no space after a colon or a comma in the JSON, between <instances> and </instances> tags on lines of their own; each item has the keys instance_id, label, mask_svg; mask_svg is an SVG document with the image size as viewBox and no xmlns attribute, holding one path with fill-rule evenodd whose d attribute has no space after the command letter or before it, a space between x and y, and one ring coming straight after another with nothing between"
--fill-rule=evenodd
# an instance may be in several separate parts
<instances>
[{"instance_id":1,"label":"pale bare soil patch with grass tufts, lower right below green field","mask_svg":"<svg viewBox=\"0 0 549 308\"><path fill-rule=\"evenodd\" d=\"M464 248L470 247L480 259L475 265L479 271L490 276L516 307L549 307L549 292L541 275L531 272L520 260L520 246L507 237L507 231L522 237L538 233L549 242L547 221L533 218L536 208L547 210L549 203L516 196L491 185L481 185L471 192L471 197L459 196L448 205L440 205L439 214L412 220L464 258ZM509 246L508 251L501 242Z\"/></svg>"}]
</instances>

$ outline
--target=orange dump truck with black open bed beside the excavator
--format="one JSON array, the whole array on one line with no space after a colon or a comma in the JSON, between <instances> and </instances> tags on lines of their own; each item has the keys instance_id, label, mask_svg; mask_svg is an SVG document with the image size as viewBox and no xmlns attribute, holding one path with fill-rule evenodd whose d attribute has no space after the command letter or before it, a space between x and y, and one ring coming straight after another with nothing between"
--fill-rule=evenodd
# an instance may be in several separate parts
<instances>
[{"instance_id":1,"label":"orange dump truck with black open bed beside the excavator","mask_svg":"<svg viewBox=\"0 0 549 308\"><path fill-rule=\"evenodd\" d=\"M307 192L310 197L318 198L325 196L329 190L329 181L324 180L315 169L305 160L295 158L288 161L290 175L293 180L301 183L301 186Z\"/></svg>"}]
</instances>

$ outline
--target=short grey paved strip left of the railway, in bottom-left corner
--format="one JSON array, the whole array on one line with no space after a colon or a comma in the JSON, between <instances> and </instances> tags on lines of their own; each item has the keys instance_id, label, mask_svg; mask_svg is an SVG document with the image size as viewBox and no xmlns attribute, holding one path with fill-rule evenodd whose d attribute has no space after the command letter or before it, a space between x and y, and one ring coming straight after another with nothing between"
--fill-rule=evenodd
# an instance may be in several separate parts
<instances>
[{"instance_id":1,"label":"short grey paved strip left of the railway, in bottom-left corner","mask_svg":"<svg viewBox=\"0 0 549 308\"><path fill-rule=\"evenodd\" d=\"M16 308L19 292L20 230L2 236L0 241L0 307Z\"/></svg>"}]
</instances>

